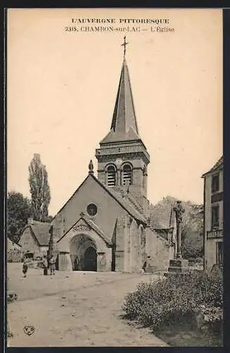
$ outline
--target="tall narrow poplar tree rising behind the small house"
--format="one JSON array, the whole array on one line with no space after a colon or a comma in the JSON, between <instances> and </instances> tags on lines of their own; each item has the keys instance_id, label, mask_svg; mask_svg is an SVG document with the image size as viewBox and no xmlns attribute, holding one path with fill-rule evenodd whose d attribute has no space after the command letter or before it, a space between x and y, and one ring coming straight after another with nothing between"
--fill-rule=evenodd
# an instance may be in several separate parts
<instances>
[{"instance_id":1,"label":"tall narrow poplar tree rising behind the small house","mask_svg":"<svg viewBox=\"0 0 230 353\"><path fill-rule=\"evenodd\" d=\"M46 166L41 164L41 158L38 153L34 153L34 157L30 162L29 183L34 220L46 222L51 193Z\"/></svg>"}]
</instances>

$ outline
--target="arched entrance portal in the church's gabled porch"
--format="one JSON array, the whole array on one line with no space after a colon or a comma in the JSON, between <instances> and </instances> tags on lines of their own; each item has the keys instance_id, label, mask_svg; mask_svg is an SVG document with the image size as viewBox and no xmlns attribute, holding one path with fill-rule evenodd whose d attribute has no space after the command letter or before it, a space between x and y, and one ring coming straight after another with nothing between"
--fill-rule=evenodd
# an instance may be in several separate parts
<instances>
[{"instance_id":1,"label":"arched entrance portal in the church's gabled porch","mask_svg":"<svg viewBox=\"0 0 230 353\"><path fill-rule=\"evenodd\" d=\"M97 249L93 239L79 234L70 242L70 258L73 271L96 271Z\"/></svg>"}]
</instances>

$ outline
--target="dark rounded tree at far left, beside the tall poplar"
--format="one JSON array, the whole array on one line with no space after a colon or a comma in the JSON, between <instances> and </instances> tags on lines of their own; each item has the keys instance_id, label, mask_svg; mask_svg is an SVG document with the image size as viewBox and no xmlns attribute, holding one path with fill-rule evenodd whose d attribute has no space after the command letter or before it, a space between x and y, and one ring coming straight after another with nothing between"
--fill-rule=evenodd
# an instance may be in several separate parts
<instances>
[{"instance_id":1,"label":"dark rounded tree at far left, beside the tall poplar","mask_svg":"<svg viewBox=\"0 0 230 353\"><path fill-rule=\"evenodd\" d=\"M18 243L20 234L25 225L27 225L28 218L32 215L29 198L24 197L22 193L8 192L6 211L7 235L12 241Z\"/></svg>"}]
</instances>

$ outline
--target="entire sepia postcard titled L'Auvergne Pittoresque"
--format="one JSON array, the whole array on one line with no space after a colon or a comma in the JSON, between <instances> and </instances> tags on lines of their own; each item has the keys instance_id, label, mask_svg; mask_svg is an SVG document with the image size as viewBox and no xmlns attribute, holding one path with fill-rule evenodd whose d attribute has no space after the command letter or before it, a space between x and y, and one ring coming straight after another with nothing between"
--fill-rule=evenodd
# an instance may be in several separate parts
<instances>
[{"instance_id":1,"label":"entire sepia postcard titled L'Auvergne Pittoresque","mask_svg":"<svg viewBox=\"0 0 230 353\"><path fill-rule=\"evenodd\" d=\"M222 10L6 17L8 347L222 346Z\"/></svg>"}]
</instances>

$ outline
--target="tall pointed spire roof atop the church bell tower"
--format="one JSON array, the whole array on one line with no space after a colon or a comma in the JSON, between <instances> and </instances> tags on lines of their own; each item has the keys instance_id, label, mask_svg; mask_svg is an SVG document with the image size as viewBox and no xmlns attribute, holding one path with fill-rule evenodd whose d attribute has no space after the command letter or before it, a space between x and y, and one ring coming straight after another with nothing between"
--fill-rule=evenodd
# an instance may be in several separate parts
<instances>
[{"instance_id":1,"label":"tall pointed spire roof atop the church bell tower","mask_svg":"<svg viewBox=\"0 0 230 353\"><path fill-rule=\"evenodd\" d=\"M126 60L124 59L110 132L101 140L101 143L140 139L136 123L129 70Z\"/></svg>"}]
</instances>

